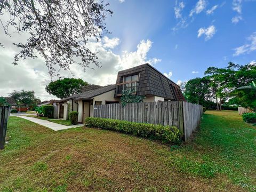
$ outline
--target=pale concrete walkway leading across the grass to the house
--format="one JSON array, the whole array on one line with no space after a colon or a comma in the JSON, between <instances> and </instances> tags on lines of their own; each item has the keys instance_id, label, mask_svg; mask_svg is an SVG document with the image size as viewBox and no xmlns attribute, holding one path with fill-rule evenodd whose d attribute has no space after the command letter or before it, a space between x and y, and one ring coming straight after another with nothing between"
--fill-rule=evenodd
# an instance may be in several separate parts
<instances>
[{"instance_id":1,"label":"pale concrete walkway leading across the grass to the house","mask_svg":"<svg viewBox=\"0 0 256 192\"><path fill-rule=\"evenodd\" d=\"M19 117L27 119L28 121L37 123L39 125L46 126L46 127L50 128L54 131L59 131L59 130L65 130L65 129L70 129L70 128L74 128L74 127L84 126L84 124L66 126L66 125L61 125L61 124L58 124L58 123L53 123L53 122L49 122L47 120L42 120L42 119L38 119L38 118L34 118L34 117L27 117L27 116L19 116Z\"/></svg>"}]
</instances>

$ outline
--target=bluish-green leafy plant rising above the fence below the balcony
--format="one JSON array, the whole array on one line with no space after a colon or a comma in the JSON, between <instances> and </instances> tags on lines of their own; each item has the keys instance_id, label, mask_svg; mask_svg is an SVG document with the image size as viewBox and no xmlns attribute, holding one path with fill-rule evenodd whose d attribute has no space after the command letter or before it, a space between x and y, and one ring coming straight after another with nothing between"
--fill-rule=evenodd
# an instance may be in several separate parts
<instances>
[{"instance_id":1,"label":"bluish-green leafy plant rising above the fence below the balcony","mask_svg":"<svg viewBox=\"0 0 256 192\"><path fill-rule=\"evenodd\" d=\"M134 90L126 89L122 91L121 105L124 107L127 103L138 103L145 99L144 95L135 95Z\"/></svg>"}]
</instances>

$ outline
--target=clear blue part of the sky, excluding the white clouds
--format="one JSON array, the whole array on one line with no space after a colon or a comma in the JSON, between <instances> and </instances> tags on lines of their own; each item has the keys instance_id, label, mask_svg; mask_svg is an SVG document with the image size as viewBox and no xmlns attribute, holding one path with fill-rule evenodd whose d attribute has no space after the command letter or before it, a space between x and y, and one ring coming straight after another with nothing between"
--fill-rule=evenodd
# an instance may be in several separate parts
<instances>
[{"instance_id":1,"label":"clear blue part of the sky, excluding the white clouds","mask_svg":"<svg viewBox=\"0 0 256 192\"><path fill-rule=\"evenodd\" d=\"M177 18L174 8L179 8L181 3L184 7L180 11L181 17ZM163 73L172 71L171 79L175 82L203 76L210 66L225 67L229 61L244 65L256 60L256 50L234 55L235 48L251 43L247 38L256 31L256 1L197 3L188 0L110 1L114 14L106 22L112 33L108 36L120 39L114 52L134 51L141 39L149 39L153 44L148 57L161 59L155 67ZM199 9L190 17L196 5L202 5L202 11ZM207 14L207 10L215 5L217 9ZM238 22L232 22L235 17ZM179 26L182 19L186 20L187 26ZM198 37L200 28L210 26L215 28L210 39L205 39L205 35Z\"/></svg>"}]
</instances>

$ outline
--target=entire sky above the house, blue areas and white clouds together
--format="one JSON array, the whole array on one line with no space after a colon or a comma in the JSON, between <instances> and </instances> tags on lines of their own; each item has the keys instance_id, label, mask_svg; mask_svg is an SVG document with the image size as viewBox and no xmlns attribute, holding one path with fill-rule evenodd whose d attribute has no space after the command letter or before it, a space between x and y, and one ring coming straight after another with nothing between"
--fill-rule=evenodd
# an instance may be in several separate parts
<instances>
[{"instance_id":1,"label":"entire sky above the house, blue areas and white clouds together","mask_svg":"<svg viewBox=\"0 0 256 192\"><path fill-rule=\"evenodd\" d=\"M115 84L119 70L149 62L178 83L203 76L207 67L225 67L229 61L245 65L256 60L256 0L105 3L108 1L114 12L106 19L111 34L87 43L91 51L98 52L102 67L84 72L80 66L71 65L75 78L91 84ZM12 33L9 38L0 30L0 42L5 46L0 47L0 96L24 89L34 90L41 100L55 99L45 91L51 78L43 58L11 64L20 51L12 43L27 38L26 33ZM60 75L73 77L69 71L60 71Z\"/></svg>"}]
</instances>

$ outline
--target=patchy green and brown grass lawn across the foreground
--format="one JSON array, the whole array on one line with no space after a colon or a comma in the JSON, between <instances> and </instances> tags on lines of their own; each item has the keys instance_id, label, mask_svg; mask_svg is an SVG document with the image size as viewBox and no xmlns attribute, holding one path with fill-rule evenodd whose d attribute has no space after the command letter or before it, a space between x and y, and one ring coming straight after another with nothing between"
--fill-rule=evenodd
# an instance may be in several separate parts
<instances>
[{"instance_id":1,"label":"patchy green and brown grass lawn across the foreground","mask_svg":"<svg viewBox=\"0 0 256 192\"><path fill-rule=\"evenodd\" d=\"M178 146L107 130L54 132L10 117L0 191L253 191L256 129L237 111L207 111Z\"/></svg>"}]
</instances>

